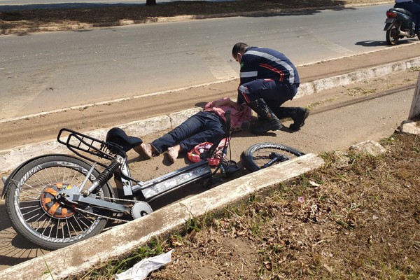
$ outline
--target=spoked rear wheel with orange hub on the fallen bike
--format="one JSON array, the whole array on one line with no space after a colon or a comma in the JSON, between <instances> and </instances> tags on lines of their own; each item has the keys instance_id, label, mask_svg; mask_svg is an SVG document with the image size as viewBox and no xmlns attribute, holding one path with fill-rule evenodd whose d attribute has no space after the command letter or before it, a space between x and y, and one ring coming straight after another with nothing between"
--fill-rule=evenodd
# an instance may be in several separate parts
<instances>
[{"instance_id":1,"label":"spoked rear wheel with orange hub on the fallen bike","mask_svg":"<svg viewBox=\"0 0 420 280\"><path fill-rule=\"evenodd\" d=\"M78 188L90 165L69 155L45 155L20 168L9 180L6 211L13 228L22 237L42 248L55 250L99 234L107 220L94 209L79 211L55 196L60 188ZM89 181L97 178L94 170ZM97 195L110 197L109 187Z\"/></svg>"}]
</instances>

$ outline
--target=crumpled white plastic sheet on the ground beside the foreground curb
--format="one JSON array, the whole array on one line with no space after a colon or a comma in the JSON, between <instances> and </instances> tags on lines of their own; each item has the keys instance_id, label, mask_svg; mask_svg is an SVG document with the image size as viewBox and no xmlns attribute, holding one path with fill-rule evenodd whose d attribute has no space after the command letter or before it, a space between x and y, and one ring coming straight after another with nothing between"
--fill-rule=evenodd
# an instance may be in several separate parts
<instances>
[{"instance_id":1,"label":"crumpled white plastic sheet on the ground beside the foreground curb","mask_svg":"<svg viewBox=\"0 0 420 280\"><path fill-rule=\"evenodd\" d=\"M143 280L146 279L149 273L153 272L153 270L162 267L162 265L166 265L168 262L171 261L171 250L167 253L163 253L160 255L156 255L155 257L145 258L134 267L128 269L125 272L121 272L120 274L115 275L116 280Z\"/></svg>"}]
</instances>

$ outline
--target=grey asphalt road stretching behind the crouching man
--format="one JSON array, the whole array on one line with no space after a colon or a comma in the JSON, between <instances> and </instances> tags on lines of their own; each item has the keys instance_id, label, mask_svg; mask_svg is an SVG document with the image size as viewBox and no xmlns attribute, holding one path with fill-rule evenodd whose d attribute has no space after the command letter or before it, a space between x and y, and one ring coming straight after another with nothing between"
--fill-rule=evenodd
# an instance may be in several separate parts
<instances>
[{"instance_id":1,"label":"grey asphalt road stretching behind the crouching man","mask_svg":"<svg viewBox=\"0 0 420 280\"><path fill-rule=\"evenodd\" d=\"M0 36L0 120L234 78L237 41L295 64L386 48L386 7Z\"/></svg>"}]
</instances>

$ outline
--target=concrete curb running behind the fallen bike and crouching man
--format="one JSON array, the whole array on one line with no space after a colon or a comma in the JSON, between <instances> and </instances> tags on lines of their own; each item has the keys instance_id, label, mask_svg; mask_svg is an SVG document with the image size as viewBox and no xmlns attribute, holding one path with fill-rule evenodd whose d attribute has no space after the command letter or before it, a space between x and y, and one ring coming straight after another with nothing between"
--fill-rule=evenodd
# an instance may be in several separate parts
<instances>
[{"instance_id":1,"label":"concrete curb running behind the fallen bike and crouching man","mask_svg":"<svg viewBox=\"0 0 420 280\"><path fill-rule=\"evenodd\" d=\"M320 80L314 80L312 82L303 83L300 85L296 98L302 97L304 95L320 93L323 90L329 90L334 87L357 83L362 80L386 76L389 73L393 73L395 71L404 71L414 66L420 66L420 57L407 59L401 62L384 64L381 66L374 66L368 69L361 69L360 71L353 71L350 73L323 78ZM123 128L127 134L142 137L155 132L160 132L162 130L172 129L173 127L176 127L184 120L186 120L189 116L197 113L197 111L200 111L200 109L196 108L186 111L179 111L170 115L158 116L146 120L121 124L118 125L118 127ZM106 135L108 130L109 128L94 130L92 132L88 132L87 134L98 139L104 139L104 135ZM69 150L67 150L65 146L58 144L55 140L44 141L27 146L20 146L13 148L12 150L0 151L0 173L6 173L10 171L10 169L18 167L20 162L24 162L25 160L33 158L37 155L51 153L51 151L55 151L55 153L69 153Z\"/></svg>"}]
</instances>

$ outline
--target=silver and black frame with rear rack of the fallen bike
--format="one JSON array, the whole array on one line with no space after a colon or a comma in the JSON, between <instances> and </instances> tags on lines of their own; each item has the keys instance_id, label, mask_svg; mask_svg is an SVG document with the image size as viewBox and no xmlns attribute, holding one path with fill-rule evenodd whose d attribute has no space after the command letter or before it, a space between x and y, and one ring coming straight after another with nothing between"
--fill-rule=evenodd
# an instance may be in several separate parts
<instances>
[{"instance_id":1,"label":"silver and black frame with rear rack of the fallen bike","mask_svg":"<svg viewBox=\"0 0 420 280\"><path fill-rule=\"evenodd\" d=\"M69 136L66 141L62 141L60 138L65 132L69 132ZM75 139L76 144L74 143ZM91 170L87 172L87 177L90 176L90 172L92 172L96 165L101 165L107 169L112 165L112 162L119 162L118 167L112 172L113 174L111 174L111 176L114 175L114 181L116 181L117 185L122 186L124 197L135 197L136 200L142 200L144 202L151 202L158 197L162 197L163 195L190 183L209 179L214 174L209 166L209 160L204 159L200 162L195 162L192 165L177 169L174 172L151 179L150 181L139 181L132 178L127 155L125 155L125 151L118 148L118 144L100 141L66 128L60 130L57 140L60 144L66 145L70 151L76 153L80 158L93 162ZM116 155L113 155L113 153L110 153L111 150L119 150L119 152ZM99 158L111 160L111 164L105 165L102 162L93 160L91 157L83 154L83 152L89 153L90 155L96 155ZM111 176L106 179L106 181L111 179ZM129 212L128 209L121 208L121 204L119 203L87 198L97 186L99 185L93 183L92 186L84 191L82 191L84 186L80 186L80 193L83 193L84 195L75 195L74 193L71 193L71 190L63 190L62 193L67 197L71 197L69 198L69 202L88 203L92 206L109 209L111 211Z\"/></svg>"}]
</instances>

